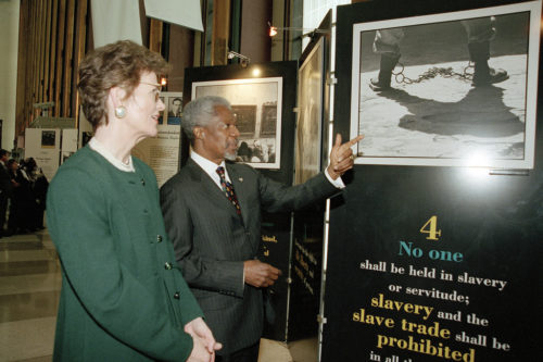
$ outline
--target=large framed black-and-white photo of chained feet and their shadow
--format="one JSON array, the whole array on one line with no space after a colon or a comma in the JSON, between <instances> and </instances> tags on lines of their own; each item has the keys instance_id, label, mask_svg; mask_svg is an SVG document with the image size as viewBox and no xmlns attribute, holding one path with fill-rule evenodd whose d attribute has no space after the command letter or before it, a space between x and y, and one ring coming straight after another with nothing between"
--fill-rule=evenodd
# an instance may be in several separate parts
<instances>
[{"instance_id":1,"label":"large framed black-and-white photo of chained feet and their shadow","mask_svg":"<svg viewBox=\"0 0 543 362\"><path fill-rule=\"evenodd\" d=\"M355 23L355 163L533 168L541 1Z\"/></svg>"}]
</instances>

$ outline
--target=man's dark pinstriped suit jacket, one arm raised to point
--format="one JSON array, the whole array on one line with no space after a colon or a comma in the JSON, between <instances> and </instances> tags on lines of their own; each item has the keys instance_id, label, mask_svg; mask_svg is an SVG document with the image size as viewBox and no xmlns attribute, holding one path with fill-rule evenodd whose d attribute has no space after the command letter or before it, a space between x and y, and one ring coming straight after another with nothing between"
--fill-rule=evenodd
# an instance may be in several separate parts
<instances>
[{"instance_id":1,"label":"man's dark pinstriped suit jacket, one arm raised to point","mask_svg":"<svg viewBox=\"0 0 543 362\"><path fill-rule=\"evenodd\" d=\"M324 174L287 187L244 164L227 163L241 217L213 179L192 160L161 189L167 233L185 279L227 354L262 335L262 290L243 284L243 261L261 242L261 209L300 209L338 191Z\"/></svg>"}]
</instances>

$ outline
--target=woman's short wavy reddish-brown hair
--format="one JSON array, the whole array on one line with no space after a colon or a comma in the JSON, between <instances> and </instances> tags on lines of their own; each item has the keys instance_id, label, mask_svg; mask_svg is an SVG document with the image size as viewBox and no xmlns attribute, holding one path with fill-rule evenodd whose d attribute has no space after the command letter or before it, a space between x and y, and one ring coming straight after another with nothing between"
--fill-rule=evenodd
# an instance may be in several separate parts
<instances>
[{"instance_id":1,"label":"woman's short wavy reddish-brown hair","mask_svg":"<svg viewBox=\"0 0 543 362\"><path fill-rule=\"evenodd\" d=\"M128 98L138 86L142 73L163 75L169 71L171 65L161 54L130 40L110 43L87 54L79 65L77 87L83 112L92 128L96 129L102 123L108 124L105 104L112 87L122 87Z\"/></svg>"}]
</instances>

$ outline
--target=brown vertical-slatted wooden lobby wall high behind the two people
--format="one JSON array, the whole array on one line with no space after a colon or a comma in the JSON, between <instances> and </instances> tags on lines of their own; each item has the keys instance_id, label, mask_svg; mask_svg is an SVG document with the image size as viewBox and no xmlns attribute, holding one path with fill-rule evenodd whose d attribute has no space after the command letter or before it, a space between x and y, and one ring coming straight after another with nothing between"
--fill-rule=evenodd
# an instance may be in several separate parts
<instances>
[{"instance_id":1,"label":"brown vertical-slatted wooden lobby wall high behind the two people","mask_svg":"<svg viewBox=\"0 0 543 362\"><path fill-rule=\"evenodd\" d=\"M93 49L90 1L0 1L2 148L14 148L39 115L34 103L55 102L49 116L78 118L76 70ZM328 9L349 2L202 0L204 32L200 33L146 17L139 0L142 39L174 65L165 90L182 91L186 67L237 63L238 59L227 58L228 50L252 63L299 59L302 28L316 27ZM289 29L269 38L268 22Z\"/></svg>"}]
</instances>

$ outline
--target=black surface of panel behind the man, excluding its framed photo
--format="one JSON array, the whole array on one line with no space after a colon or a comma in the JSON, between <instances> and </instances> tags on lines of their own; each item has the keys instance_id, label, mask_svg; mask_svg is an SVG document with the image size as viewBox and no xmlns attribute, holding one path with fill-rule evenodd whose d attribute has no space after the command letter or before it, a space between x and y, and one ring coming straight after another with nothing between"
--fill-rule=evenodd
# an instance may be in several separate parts
<instances>
[{"instance_id":1,"label":"black surface of panel behind the man, excluding its framed photo","mask_svg":"<svg viewBox=\"0 0 543 362\"><path fill-rule=\"evenodd\" d=\"M257 71L257 76L255 76ZM295 129L295 100L298 62L282 61L258 64L231 64L193 67L185 71L184 107L192 99L194 82L232 80L282 77L281 154L280 168L258 168L258 172L276 182L292 185ZM185 133L180 137L179 160L182 165L189 157L189 141ZM288 325L289 284L292 219L290 213L263 213L262 242L258 259L282 271L275 285L266 288L265 323L263 337L286 341Z\"/></svg>"}]
</instances>

